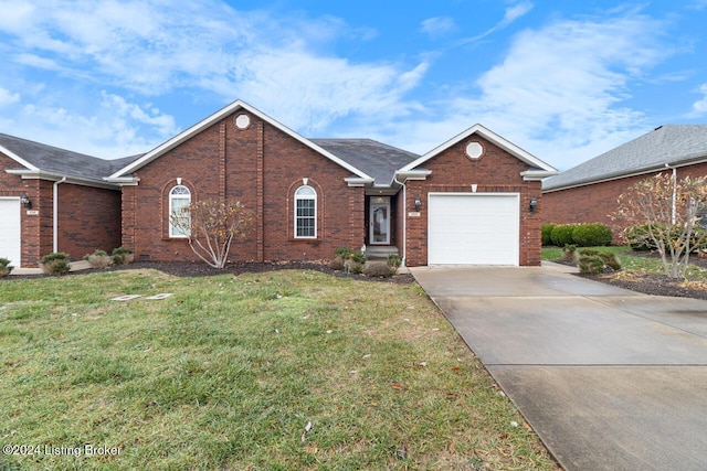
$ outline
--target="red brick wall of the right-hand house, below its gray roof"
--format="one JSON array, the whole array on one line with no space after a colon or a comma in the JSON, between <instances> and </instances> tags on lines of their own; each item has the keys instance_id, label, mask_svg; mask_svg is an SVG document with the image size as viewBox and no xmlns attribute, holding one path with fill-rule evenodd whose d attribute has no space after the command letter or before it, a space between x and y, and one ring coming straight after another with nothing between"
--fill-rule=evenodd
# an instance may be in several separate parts
<instances>
[{"instance_id":1,"label":"red brick wall of the right-hand house, below its gray roof","mask_svg":"<svg viewBox=\"0 0 707 471\"><path fill-rule=\"evenodd\" d=\"M672 173L672 170L667 170ZM612 228L614 239L621 242L621 233L625 224L614 220L616 201L636 182L651 178L655 173L647 173L626 179L594 183L568 190L548 192L542 195L542 223L602 223ZM677 178L686 175L707 175L707 163L683 167L677 169Z\"/></svg>"}]
</instances>

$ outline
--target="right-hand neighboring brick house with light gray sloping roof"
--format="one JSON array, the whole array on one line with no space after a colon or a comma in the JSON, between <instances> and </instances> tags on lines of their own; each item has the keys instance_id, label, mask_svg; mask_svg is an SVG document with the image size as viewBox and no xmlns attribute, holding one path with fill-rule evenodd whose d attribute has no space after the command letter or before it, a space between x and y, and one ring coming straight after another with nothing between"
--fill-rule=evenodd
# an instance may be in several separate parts
<instances>
[{"instance_id":1,"label":"right-hand neighboring brick house with light gray sloping roof","mask_svg":"<svg viewBox=\"0 0 707 471\"><path fill-rule=\"evenodd\" d=\"M669 125L626 142L542 183L544 223L603 223L614 234L616 201L634 183L659 172L707 175L707 126Z\"/></svg>"}]
</instances>

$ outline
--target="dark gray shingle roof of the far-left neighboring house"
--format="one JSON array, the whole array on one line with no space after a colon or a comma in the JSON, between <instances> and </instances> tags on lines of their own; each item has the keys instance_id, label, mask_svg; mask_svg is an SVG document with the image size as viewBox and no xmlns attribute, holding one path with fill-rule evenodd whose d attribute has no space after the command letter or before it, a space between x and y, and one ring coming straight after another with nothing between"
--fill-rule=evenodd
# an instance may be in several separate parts
<instances>
[{"instance_id":1,"label":"dark gray shingle roof of the far-left neighboring house","mask_svg":"<svg viewBox=\"0 0 707 471\"><path fill-rule=\"evenodd\" d=\"M97 182L139 157L105 160L3 133L0 146L42 172Z\"/></svg>"}]
</instances>

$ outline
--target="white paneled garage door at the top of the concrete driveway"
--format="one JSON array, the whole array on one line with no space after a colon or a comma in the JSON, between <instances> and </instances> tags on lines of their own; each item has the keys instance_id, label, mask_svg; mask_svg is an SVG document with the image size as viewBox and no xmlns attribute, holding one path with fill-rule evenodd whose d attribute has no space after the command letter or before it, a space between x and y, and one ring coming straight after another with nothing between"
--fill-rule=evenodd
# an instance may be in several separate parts
<instances>
[{"instance_id":1,"label":"white paneled garage door at the top of the concrete driveway","mask_svg":"<svg viewBox=\"0 0 707 471\"><path fill-rule=\"evenodd\" d=\"M429 265L518 265L517 193L432 193L429 204Z\"/></svg>"}]
</instances>

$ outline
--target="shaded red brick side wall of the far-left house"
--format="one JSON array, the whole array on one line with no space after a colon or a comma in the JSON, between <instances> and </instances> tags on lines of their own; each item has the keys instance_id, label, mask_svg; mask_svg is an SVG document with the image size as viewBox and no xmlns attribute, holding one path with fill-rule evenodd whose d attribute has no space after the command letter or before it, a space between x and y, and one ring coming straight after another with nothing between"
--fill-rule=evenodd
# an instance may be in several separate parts
<instances>
[{"instance_id":1,"label":"shaded red brick side wall of the far-left house","mask_svg":"<svg viewBox=\"0 0 707 471\"><path fill-rule=\"evenodd\" d=\"M62 183L57 192L59 251L78 260L96 249L109 254L120 245L119 191Z\"/></svg>"}]
</instances>

